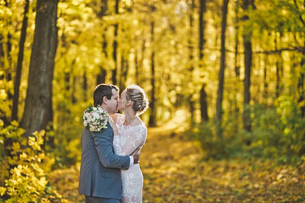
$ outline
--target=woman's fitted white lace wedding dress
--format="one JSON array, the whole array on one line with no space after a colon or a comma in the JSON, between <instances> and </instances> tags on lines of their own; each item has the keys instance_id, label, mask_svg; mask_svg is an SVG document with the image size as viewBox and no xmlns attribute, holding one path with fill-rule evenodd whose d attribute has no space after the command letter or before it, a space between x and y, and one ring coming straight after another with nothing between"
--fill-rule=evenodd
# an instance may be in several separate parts
<instances>
[{"instance_id":1,"label":"woman's fitted white lace wedding dress","mask_svg":"<svg viewBox=\"0 0 305 203\"><path fill-rule=\"evenodd\" d=\"M138 147L142 149L147 128L142 122L136 126L125 126L125 115L116 113L113 118L117 129L113 129L113 149L115 154L129 156ZM113 127L112 127L113 128ZM123 184L123 203L142 202L143 175L139 164L133 164L128 170L121 170Z\"/></svg>"}]
</instances>

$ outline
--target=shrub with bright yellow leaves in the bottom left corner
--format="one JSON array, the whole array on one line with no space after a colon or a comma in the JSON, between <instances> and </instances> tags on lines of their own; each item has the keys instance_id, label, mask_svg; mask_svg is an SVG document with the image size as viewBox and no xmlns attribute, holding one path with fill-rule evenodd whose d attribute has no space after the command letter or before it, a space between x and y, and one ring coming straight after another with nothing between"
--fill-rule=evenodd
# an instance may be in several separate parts
<instances>
[{"instance_id":1,"label":"shrub with bright yellow leaves in the bottom left corner","mask_svg":"<svg viewBox=\"0 0 305 203\"><path fill-rule=\"evenodd\" d=\"M46 155L41 148L45 131L36 131L33 136L26 139L22 137L24 130L19 128L17 122L12 122L6 128L1 123L3 122L0 120L2 136L0 140L4 139L3 136L9 136L14 140L10 147L12 157L5 157L2 160L6 163L6 168L8 164L14 166L9 176L6 173L0 175L1 178L6 179L3 183L4 187L0 187L0 195L3 198L6 196L5 202L69 202L63 199L47 181L47 172L51 170L54 158L49 154ZM4 171L2 169L0 172ZM4 202L1 197L0 202Z\"/></svg>"}]
</instances>

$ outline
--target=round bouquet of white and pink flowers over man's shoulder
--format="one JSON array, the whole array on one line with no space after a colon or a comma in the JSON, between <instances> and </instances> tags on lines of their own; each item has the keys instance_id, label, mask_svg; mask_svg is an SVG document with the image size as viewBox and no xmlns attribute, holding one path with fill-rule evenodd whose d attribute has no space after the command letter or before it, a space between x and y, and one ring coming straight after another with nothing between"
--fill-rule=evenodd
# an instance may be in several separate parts
<instances>
[{"instance_id":1,"label":"round bouquet of white and pink flowers over man's shoulder","mask_svg":"<svg viewBox=\"0 0 305 203\"><path fill-rule=\"evenodd\" d=\"M102 129L107 128L108 117L109 114L101 107L94 107L90 103L82 116L82 120L87 130L100 132Z\"/></svg>"}]
</instances>

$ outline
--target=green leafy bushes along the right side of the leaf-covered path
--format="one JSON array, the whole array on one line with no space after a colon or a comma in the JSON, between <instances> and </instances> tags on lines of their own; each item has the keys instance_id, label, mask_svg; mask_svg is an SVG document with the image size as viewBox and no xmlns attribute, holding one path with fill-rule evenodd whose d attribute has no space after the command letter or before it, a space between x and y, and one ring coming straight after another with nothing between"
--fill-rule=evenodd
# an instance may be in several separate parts
<instances>
[{"instance_id":1,"label":"green leafy bushes along the right side of the leaf-covered path","mask_svg":"<svg viewBox=\"0 0 305 203\"><path fill-rule=\"evenodd\" d=\"M233 118L223 123L222 139L217 136L215 122L192 129L191 134L200 142L206 158L277 158L282 163L294 163L304 155L305 118L292 97L281 96L273 107L256 104L250 108L251 132L234 131L231 127L238 121Z\"/></svg>"}]
</instances>

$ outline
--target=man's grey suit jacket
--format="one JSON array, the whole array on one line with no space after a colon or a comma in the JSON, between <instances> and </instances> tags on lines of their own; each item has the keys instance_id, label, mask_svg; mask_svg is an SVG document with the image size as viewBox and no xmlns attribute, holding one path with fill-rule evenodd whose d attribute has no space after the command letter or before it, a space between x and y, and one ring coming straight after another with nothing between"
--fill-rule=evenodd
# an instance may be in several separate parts
<instances>
[{"instance_id":1,"label":"man's grey suit jacket","mask_svg":"<svg viewBox=\"0 0 305 203\"><path fill-rule=\"evenodd\" d=\"M113 130L109 122L102 132L91 132L85 127L82 130L78 192L85 196L93 196L95 200L90 202L112 202L111 199L122 197L120 169L129 168L130 158L115 155L112 140ZM96 200L99 199L96 197L102 198Z\"/></svg>"}]
</instances>

